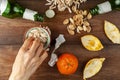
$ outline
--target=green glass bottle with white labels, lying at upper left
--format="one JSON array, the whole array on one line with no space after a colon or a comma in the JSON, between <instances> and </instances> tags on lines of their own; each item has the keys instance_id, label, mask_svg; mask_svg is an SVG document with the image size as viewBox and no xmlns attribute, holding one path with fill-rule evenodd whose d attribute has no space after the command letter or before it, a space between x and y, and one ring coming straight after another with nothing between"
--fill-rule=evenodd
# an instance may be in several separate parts
<instances>
[{"instance_id":1,"label":"green glass bottle with white labels, lying at upper left","mask_svg":"<svg viewBox=\"0 0 120 80\"><path fill-rule=\"evenodd\" d=\"M32 21L44 21L43 15L20 6L14 0L0 0L0 15L7 18L23 17Z\"/></svg>"}]
</instances>

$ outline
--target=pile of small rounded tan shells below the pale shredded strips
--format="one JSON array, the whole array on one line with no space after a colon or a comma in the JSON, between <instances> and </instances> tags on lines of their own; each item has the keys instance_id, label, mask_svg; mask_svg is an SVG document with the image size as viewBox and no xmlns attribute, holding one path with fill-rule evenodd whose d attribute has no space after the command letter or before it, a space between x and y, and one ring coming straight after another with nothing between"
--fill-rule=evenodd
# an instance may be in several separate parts
<instances>
[{"instance_id":1,"label":"pile of small rounded tan shells below the pale shredded strips","mask_svg":"<svg viewBox=\"0 0 120 80\"><path fill-rule=\"evenodd\" d=\"M77 10L75 6L72 7L72 10L76 14L73 17L65 19L63 21L63 24L68 24L68 32L72 35L75 34L75 31L79 34L81 33L81 31L90 32L91 26L88 22L88 19L91 19L92 15L88 13L87 10Z\"/></svg>"}]
</instances>

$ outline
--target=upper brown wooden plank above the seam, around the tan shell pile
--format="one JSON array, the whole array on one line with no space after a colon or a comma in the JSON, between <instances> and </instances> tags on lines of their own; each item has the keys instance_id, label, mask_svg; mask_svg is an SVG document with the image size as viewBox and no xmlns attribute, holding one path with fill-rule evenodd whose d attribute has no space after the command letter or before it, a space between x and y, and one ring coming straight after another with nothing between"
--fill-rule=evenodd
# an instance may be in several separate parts
<instances>
[{"instance_id":1,"label":"upper brown wooden plank above the seam, around the tan shell pile","mask_svg":"<svg viewBox=\"0 0 120 80\"><path fill-rule=\"evenodd\" d=\"M35 5L39 1L37 0L37 1L29 2L27 0L24 0L24 1L19 1L19 2L21 4L23 4L23 6L26 4L25 7L28 6L28 8L29 8L30 5ZM40 2L42 3L43 1L40 1ZM92 3L92 2L94 4L98 3L98 1L95 1L95 2L88 1L88 2L89 3L87 6L91 6L90 3ZM85 8L87 6L85 6ZM44 6L44 7L47 8L46 6ZM35 9L38 10L39 7L36 7ZM70 17L72 14L68 14L68 11L65 11L63 13L59 12L56 14L57 15L55 16L55 18L46 19L44 23L32 22L32 21L19 19L19 18L7 19L7 18L0 17L0 44L21 44L23 41L23 36L24 36L25 32L29 28L39 26L40 24L49 26L49 28L52 31L52 40L54 40L55 37L57 37L60 33L62 33L65 35L65 37L68 41L67 42L68 44L69 43L78 44L79 38L81 36L83 36L85 34L89 34L89 33L82 33L80 35L77 34L75 36L70 36L67 32L66 25L63 25L62 22L64 19ZM90 23L92 26L92 31L90 34L94 34L97 37L99 37L100 40L103 42L103 44L112 44L110 42L110 40L107 39L106 35L104 34L104 30L103 30L104 24L103 23L104 23L104 20L109 20L112 23L116 24L118 26L118 28L120 29L119 19L120 19L120 12L119 11L113 11L113 12L110 12L110 13L107 13L104 15L98 15L98 16L93 17L93 19L90 20Z\"/></svg>"}]
</instances>

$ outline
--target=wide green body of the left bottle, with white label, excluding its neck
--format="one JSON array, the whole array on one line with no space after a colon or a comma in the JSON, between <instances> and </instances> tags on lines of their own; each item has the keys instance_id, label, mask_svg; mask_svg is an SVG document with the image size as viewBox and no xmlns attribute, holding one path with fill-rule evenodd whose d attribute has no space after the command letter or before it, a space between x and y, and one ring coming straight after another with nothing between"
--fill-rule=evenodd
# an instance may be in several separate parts
<instances>
[{"instance_id":1,"label":"wide green body of the left bottle, with white label, excluding its neck","mask_svg":"<svg viewBox=\"0 0 120 80\"><path fill-rule=\"evenodd\" d=\"M0 3L0 15L8 18L14 18L21 16L20 6L13 0L1 0Z\"/></svg>"}]
</instances>

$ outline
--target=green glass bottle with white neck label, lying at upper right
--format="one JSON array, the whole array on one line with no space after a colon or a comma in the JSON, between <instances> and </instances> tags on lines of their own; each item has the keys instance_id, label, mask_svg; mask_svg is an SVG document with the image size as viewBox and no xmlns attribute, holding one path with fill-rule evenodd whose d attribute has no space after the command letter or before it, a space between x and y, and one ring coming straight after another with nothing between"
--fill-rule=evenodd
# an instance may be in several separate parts
<instances>
[{"instance_id":1,"label":"green glass bottle with white neck label, lying at upper right","mask_svg":"<svg viewBox=\"0 0 120 80\"><path fill-rule=\"evenodd\" d=\"M120 0L109 0L98 4L96 7L90 9L90 13L92 15L104 14L112 11L113 9L120 10Z\"/></svg>"}]
</instances>

